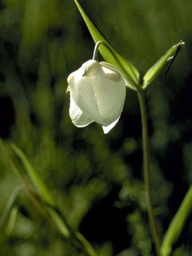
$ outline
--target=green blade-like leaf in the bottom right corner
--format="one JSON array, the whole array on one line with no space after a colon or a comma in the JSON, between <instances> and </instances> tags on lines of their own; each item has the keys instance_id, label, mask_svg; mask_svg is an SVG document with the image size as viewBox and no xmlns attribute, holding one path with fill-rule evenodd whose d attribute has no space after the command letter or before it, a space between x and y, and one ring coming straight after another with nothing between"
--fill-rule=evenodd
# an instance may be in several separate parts
<instances>
[{"instance_id":1,"label":"green blade-like leaf in the bottom right corner","mask_svg":"<svg viewBox=\"0 0 192 256\"><path fill-rule=\"evenodd\" d=\"M187 191L185 198L179 206L177 213L174 215L173 220L170 222L170 226L166 231L166 235L162 241L162 255L169 256L172 250L172 245L177 241L179 235L182 232L182 228L186 222L186 218L189 216L192 210L192 185Z\"/></svg>"}]
</instances>

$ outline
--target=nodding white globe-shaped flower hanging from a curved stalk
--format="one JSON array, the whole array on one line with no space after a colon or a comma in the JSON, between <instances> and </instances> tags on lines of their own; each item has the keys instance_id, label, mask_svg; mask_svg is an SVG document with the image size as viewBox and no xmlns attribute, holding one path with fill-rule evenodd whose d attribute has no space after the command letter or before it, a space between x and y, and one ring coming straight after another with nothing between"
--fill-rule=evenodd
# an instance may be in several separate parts
<instances>
[{"instance_id":1,"label":"nodding white globe-shaped flower hanging from a curved stalk","mask_svg":"<svg viewBox=\"0 0 192 256\"><path fill-rule=\"evenodd\" d=\"M110 63L89 60L67 78L70 118L75 126L91 122L108 133L118 122L126 98L126 81Z\"/></svg>"}]
</instances>

